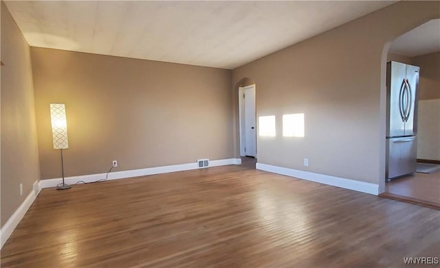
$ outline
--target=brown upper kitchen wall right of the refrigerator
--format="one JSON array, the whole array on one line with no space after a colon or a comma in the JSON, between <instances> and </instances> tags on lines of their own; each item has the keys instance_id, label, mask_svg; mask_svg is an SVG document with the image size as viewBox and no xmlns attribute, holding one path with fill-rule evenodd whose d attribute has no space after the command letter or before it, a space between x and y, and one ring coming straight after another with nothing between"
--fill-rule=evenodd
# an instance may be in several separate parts
<instances>
[{"instance_id":1,"label":"brown upper kitchen wall right of the refrigerator","mask_svg":"<svg viewBox=\"0 0 440 268\"><path fill-rule=\"evenodd\" d=\"M419 100L440 99L440 51L412 58L420 66Z\"/></svg>"}]
</instances>

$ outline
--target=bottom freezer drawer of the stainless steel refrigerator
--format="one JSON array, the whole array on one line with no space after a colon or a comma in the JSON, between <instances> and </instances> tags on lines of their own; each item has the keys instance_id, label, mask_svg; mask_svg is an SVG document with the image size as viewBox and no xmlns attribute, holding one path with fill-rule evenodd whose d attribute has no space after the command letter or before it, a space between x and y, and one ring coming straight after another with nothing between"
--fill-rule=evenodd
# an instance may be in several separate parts
<instances>
[{"instance_id":1,"label":"bottom freezer drawer of the stainless steel refrigerator","mask_svg":"<svg viewBox=\"0 0 440 268\"><path fill-rule=\"evenodd\" d=\"M386 178L414 173L417 165L416 136L386 139Z\"/></svg>"}]
</instances>

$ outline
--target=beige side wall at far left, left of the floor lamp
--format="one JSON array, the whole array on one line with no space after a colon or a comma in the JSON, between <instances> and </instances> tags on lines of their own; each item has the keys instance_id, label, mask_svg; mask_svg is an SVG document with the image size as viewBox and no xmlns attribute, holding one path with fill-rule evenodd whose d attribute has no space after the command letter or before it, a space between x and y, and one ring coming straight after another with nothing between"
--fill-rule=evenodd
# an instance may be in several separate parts
<instances>
[{"instance_id":1,"label":"beige side wall at far left, left of the floor lamp","mask_svg":"<svg viewBox=\"0 0 440 268\"><path fill-rule=\"evenodd\" d=\"M1 227L39 180L30 48L1 1ZM23 195L20 195L23 183Z\"/></svg>"}]
</instances>

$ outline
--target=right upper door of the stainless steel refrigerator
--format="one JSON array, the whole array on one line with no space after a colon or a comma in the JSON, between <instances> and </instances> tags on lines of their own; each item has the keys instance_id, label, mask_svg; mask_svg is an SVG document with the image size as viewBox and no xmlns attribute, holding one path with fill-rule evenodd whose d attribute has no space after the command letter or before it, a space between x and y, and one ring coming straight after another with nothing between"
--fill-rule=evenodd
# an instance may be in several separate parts
<instances>
[{"instance_id":1,"label":"right upper door of the stainless steel refrigerator","mask_svg":"<svg viewBox=\"0 0 440 268\"><path fill-rule=\"evenodd\" d=\"M417 87L419 86L418 66L406 65L406 94L405 103L405 136L412 136L417 133Z\"/></svg>"}]
</instances>

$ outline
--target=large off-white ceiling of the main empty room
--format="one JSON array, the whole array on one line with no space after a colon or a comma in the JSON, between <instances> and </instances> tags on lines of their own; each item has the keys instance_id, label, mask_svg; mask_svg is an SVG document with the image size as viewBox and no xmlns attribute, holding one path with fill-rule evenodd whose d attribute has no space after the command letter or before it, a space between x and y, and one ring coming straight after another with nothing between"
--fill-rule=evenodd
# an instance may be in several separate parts
<instances>
[{"instance_id":1,"label":"large off-white ceiling of the main empty room","mask_svg":"<svg viewBox=\"0 0 440 268\"><path fill-rule=\"evenodd\" d=\"M394 1L5 1L30 46L233 69Z\"/></svg>"}]
</instances>

